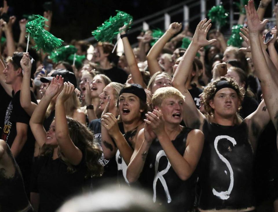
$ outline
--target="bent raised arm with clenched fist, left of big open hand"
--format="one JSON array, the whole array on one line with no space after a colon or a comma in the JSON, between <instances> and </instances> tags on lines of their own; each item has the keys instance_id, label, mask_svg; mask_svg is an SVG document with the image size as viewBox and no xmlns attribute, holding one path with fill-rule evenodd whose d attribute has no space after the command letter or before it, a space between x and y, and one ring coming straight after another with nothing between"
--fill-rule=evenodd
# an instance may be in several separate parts
<instances>
[{"instance_id":1,"label":"bent raised arm with clenched fist, left of big open hand","mask_svg":"<svg viewBox=\"0 0 278 212\"><path fill-rule=\"evenodd\" d=\"M162 37L156 41L156 43L153 45L153 47L150 49L148 55L147 55L147 61L148 61L148 68L149 72L152 75L154 75L158 71L162 71L157 58L159 54L161 53L163 47L165 44L173 37L177 32L179 32L182 28L182 24L175 22L171 23L168 30L162 35Z\"/></svg>"}]
</instances>

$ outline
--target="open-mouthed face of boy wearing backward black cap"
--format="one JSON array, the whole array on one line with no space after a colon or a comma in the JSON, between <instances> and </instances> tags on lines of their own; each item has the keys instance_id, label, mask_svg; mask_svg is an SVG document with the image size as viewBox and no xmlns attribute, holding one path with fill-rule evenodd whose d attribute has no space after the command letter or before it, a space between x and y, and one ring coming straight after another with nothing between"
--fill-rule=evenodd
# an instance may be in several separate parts
<instances>
[{"instance_id":1,"label":"open-mouthed face of boy wearing backward black cap","mask_svg":"<svg viewBox=\"0 0 278 212\"><path fill-rule=\"evenodd\" d=\"M140 99L132 93L122 93L119 97L119 113L121 119L125 123L133 122L134 120L140 120L141 113Z\"/></svg>"}]
</instances>

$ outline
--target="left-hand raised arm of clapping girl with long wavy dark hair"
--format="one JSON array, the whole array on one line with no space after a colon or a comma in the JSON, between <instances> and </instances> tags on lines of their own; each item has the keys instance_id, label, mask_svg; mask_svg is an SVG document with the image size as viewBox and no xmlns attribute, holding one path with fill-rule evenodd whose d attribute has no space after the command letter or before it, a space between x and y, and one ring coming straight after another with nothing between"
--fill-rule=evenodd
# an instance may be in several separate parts
<instances>
[{"instance_id":1,"label":"left-hand raised arm of clapping girl with long wavy dark hair","mask_svg":"<svg viewBox=\"0 0 278 212\"><path fill-rule=\"evenodd\" d=\"M53 77L50 85L45 92L45 95L43 96L31 116L30 127L36 139L36 142L39 144L40 147L43 146L46 140L46 131L43 128L43 121L47 107L49 106L51 99L58 93L59 88L62 84L63 78L61 76L59 77L57 75L56 77Z\"/></svg>"}]
</instances>

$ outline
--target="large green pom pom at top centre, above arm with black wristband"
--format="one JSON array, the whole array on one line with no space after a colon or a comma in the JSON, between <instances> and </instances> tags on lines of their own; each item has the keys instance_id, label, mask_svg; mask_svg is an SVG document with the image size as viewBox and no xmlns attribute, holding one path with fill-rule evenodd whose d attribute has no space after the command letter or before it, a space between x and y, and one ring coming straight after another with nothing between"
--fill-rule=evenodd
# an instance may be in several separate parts
<instances>
[{"instance_id":1,"label":"large green pom pom at top centre, above arm with black wristband","mask_svg":"<svg viewBox=\"0 0 278 212\"><path fill-rule=\"evenodd\" d=\"M124 25L128 25L133 21L133 17L125 12L116 10L118 13L114 17L110 17L104 21L96 30L92 31L92 35L97 41L112 42L115 35L119 33L119 28ZM130 28L130 25L128 26Z\"/></svg>"}]
</instances>

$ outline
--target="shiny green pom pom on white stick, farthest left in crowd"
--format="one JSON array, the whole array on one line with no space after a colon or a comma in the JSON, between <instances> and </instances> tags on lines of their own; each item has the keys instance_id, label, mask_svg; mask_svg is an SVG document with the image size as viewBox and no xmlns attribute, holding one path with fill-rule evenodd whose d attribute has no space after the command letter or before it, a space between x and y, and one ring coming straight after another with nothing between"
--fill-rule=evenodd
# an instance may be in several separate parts
<instances>
[{"instance_id":1,"label":"shiny green pom pom on white stick, farthest left in crowd","mask_svg":"<svg viewBox=\"0 0 278 212\"><path fill-rule=\"evenodd\" d=\"M29 21L26 24L26 32L34 39L36 50L43 50L46 53L52 53L54 48L62 45L62 41L59 38L56 38L50 32L46 31L43 28L45 18L40 15L34 15L37 19Z\"/></svg>"}]
</instances>

